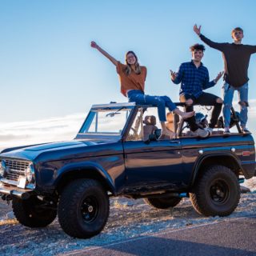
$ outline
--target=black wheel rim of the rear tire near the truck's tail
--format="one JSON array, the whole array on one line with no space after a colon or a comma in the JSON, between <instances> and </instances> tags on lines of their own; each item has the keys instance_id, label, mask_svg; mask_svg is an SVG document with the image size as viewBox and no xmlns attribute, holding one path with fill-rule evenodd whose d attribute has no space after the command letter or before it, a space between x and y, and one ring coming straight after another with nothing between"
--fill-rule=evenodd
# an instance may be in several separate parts
<instances>
[{"instance_id":1,"label":"black wheel rim of the rear tire near the truck's tail","mask_svg":"<svg viewBox=\"0 0 256 256\"><path fill-rule=\"evenodd\" d=\"M210 186L210 198L214 204L222 205L229 198L229 186L223 180L215 180Z\"/></svg>"}]
</instances>

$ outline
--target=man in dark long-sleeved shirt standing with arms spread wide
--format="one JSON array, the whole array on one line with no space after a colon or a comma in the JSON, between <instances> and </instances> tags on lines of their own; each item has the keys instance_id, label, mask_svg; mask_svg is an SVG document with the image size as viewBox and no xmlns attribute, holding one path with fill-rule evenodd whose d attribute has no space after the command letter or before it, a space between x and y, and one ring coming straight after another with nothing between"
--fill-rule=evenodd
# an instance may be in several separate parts
<instances>
[{"instance_id":1,"label":"man in dark long-sleeved shirt standing with arms spread wide","mask_svg":"<svg viewBox=\"0 0 256 256\"><path fill-rule=\"evenodd\" d=\"M225 73L224 73L224 133L230 134L230 109L234 97L234 91L238 91L239 105L240 105L240 123L244 133L250 132L246 128L248 119L248 66L250 62L250 55L256 53L256 46L249 46L242 44L243 30L240 27L234 28L231 31L233 43L228 42L212 42L201 34L201 26L194 25L194 32L198 34L202 42L208 46L220 50L222 52Z\"/></svg>"}]
</instances>

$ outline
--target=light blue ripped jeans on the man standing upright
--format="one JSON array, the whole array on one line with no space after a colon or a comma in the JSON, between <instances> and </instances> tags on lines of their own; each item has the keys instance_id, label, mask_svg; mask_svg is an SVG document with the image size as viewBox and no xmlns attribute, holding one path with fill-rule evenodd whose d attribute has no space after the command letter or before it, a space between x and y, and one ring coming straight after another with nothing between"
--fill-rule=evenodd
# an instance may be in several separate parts
<instances>
[{"instance_id":1,"label":"light blue ripped jeans on the man standing upright","mask_svg":"<svg viewBox=\"0 0 256 256\"><path fill-rule=\"evenodd\" d=\"M235 88L225 83L223 86L224 93L224 107L223 107L223 117L224 117L224 127L230 126L230 109L232 107L232 101L234 97L234 91L238 91L238 98L240 104L240 124L242 127L246 126L247 114L248 114L248 82L243 86Z\"/></svg>"}]
</instances>

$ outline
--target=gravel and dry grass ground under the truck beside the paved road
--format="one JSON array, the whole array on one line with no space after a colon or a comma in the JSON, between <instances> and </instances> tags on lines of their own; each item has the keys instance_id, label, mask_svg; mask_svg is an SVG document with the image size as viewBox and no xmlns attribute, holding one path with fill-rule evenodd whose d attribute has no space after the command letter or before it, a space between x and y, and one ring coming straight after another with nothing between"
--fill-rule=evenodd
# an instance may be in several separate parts
<instances>
[{"instance_id":1,"label":"gravel and dry grass ground under the truck beside the paved road","mask_svg":"<svg viewBox=\"0 0 256 256\"><path fill-rule=\"evenodd\" d=\"M256 178L244 186L251 192L242 194L238 208L225 218L206 218L197 214L188 198L182 199L172 210L157 210L142 199L112 198L110 217L102 233L90 239L70 238L56 219L50 226L30 229L20 225L11 212L11 207L0 201L0 254L1 255L58 255L74 250L103 246L146 234L154 234L166 228L178 229L197 226L207 222L256 215Z\"/></svg>"}]
</instances>

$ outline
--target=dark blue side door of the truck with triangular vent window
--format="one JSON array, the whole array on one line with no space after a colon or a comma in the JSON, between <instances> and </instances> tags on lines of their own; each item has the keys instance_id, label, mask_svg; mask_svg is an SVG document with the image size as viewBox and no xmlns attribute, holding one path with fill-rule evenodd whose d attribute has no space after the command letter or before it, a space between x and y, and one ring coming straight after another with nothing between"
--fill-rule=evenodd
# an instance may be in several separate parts
<instances>
[{"instance_id":1,"label":"dark blue side door of the truck with triangular vent window","mask_svg":"<svg viewBox=\"0 0 256 256\"><path fill-rule=\"evenodd\" d=\"M142 117L141 109L123 142L126 186L136 190L181 187L183 168L179 139L143 141Z\"/></svg>"}]
</instances>

